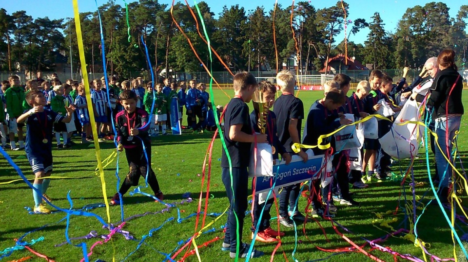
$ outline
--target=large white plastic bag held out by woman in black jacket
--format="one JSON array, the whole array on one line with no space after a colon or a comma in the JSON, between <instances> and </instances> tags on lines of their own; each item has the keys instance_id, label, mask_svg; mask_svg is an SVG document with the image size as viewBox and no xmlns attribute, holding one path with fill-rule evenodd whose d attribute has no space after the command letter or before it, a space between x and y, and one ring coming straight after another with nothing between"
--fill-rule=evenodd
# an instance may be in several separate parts
<instances>
[{"instance_id":1,"label":"large white plastic bag held out by woman in black jacket","mask_svg":"<svg viewBox=\"0 0 468 262\"><path fill-rule=\"evenodd\" d=\"M414 100L408 100L395 118L390 132L385 134L380 141L382 150L391 157L405 159L416 156L419 148L418 140L421 138L422 126L407 121L419 121L418 104Z\"/></svg>"}]
</instances>

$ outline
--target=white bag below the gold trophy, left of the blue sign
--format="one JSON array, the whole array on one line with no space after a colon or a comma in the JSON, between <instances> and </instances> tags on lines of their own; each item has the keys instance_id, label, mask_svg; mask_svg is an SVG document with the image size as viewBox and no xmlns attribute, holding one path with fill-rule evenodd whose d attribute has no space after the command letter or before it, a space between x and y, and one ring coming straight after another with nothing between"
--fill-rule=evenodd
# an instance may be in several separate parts
<instances>
[{"instance_id":1,"label":"white bag below the gold trophy, left of the blue sign","mask_svg":"<svg viewBox=\"0 0 468 262\"><path fill-rule=\"evenodd\" d=\"M267 143L257 143L257 164L255 166L254 143L252 146L252 158L249 164L249 177L273 176L272 146ZM255 169L255 172L254 172Z\"/></svg>"}]
</instances>

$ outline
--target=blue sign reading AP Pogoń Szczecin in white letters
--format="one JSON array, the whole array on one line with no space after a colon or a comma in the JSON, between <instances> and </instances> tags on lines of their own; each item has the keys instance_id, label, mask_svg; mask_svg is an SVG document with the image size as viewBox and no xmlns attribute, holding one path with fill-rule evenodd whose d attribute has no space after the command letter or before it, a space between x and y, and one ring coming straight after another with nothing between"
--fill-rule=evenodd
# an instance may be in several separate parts
<instances>
[{"instance_id":1,"label":"blue sign reading AP Pogo\u0144 Szczecin in white letters","mask_svg":"<svg viewBox=\"0 0 468 262\"><path fill-rule=\"evenodd\" d=\"M257 176L255 184L255 194L270 191L270 179L276 176L274 189L297 184L304 181L320 178L320 169L323 165L324 155L311 156L304 163L299 156L292 156L292 161L286 165L281 161L273 166L273 176Z\"/></svg>"}]
</instances>

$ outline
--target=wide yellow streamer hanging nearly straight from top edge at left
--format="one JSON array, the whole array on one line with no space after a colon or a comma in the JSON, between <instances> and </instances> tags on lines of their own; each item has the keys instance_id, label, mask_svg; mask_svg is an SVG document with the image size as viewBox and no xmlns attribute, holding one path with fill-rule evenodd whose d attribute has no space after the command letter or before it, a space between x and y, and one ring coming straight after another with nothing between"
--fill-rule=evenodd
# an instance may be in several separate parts
<instances>
[{"instance_id":1,"label":"wide yellow streamer hanging nearly straight from top edge at left","mask_svg":"<svg viewBox=\"0 0 468 262\"><path fill-rule=\"evenodd\" d=\"M86 60L84 58L83 37L81 35L81 24L79 21L79 12L78 12L78 0L73 0L73 11L75 15L75 27L77 30L79 62L81 64L81 72L83 74L84 87L86 89L86 104L88 105L89 119L91 122L90 123L91 128L93 130L94 146L96 149L96 158L98 160L98 169L99 169L99 175L101 179L102 194L104 197L104 203L106 205L107 223L110 224L111 214L109 212L109 201L107 200L106 181L104 179L104 169L102 168L101 153L100 153L99 141L98 141L98 131L96 130L96 122L94 121L94 110L93 110L93 103L91 101L91 92L90 92L89 81L88 81L88 71L86 70ZM115 258L113 258L113 261L115 261Z\"/></svg>"}]
</instances>

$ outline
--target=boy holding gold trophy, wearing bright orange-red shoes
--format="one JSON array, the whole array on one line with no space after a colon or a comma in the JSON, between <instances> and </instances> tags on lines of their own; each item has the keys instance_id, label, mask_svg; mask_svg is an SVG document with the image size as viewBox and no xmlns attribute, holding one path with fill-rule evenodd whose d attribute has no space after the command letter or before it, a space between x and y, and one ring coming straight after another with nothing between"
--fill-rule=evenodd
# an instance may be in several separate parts
<instances>
[{"instance_id":1,"label":"boy holding gold trophy, wearing bright orange-red shoes","mask_svg":"<svg viewBox=\"0 0 468 262\"><path fill-rule=\"evenodd\" d=\"M262 89L263 92L263 101L267 103L268 108L271 108L274 104L274 95L276 93L276 87L269 81L262 81L260 82L260 89ZM252 111L250 114L250 119L252 122L252 127L254 128L254 131L259 133L260 129L258 128L258 115L255 113L255 110ZM276 116L273 113L273 111L268 110L268 116L267 116L267 123L266 123L266 134L267 134L267 140L272 147L275 148L275 152L273 152L273 162L277 161L278 159L278 154L281 155L282 159L286 161L286 164L289 164L291 162L291 155L286 152L286 148L281 144L281 142L278 139L278 136L276 135ZM274 171L274 170L273 170ZM273 194L273 193L272 193ZM266 200L263 204L258 204L258 196L255 196L255 202L254 202L254 221L253 221L253 227L251 228L252 232L255 231L255 227L258 224L258 220L261 220L260 225L258 226L258 233L255 238L255 240L261 241L261 242L275 242L278 241L276 239L277 236L284 236L283 232L277 232L273 230L270 227L270 219L272 218L270 215L270 209L273 205L274 198L270 198ZM260 219L260 214L262 212L263 206L265 206L265 209L263 211L263 216ZM253 238L253 236L252 236Z\"/></svg>"}]
</instances>

